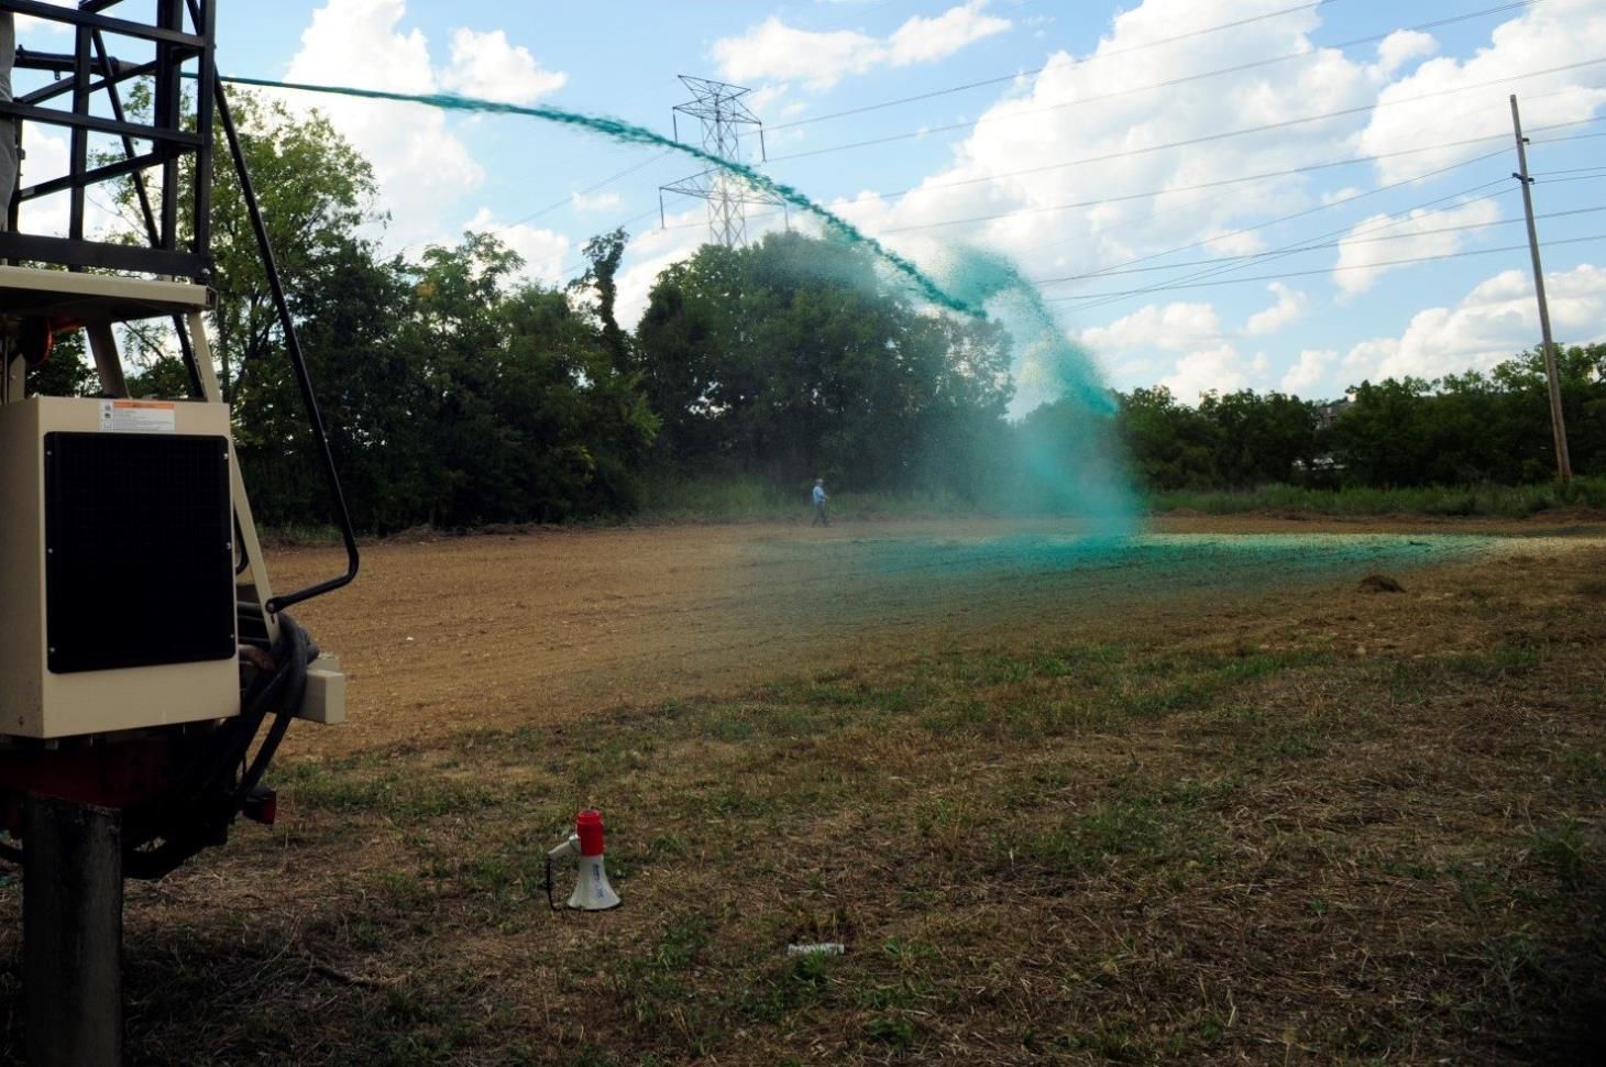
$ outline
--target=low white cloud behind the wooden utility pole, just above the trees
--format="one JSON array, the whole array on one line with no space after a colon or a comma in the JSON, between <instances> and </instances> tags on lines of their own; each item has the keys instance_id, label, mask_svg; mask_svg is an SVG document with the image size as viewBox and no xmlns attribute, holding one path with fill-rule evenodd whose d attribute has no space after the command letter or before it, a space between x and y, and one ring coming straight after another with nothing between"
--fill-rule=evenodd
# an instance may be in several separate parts
<instances>
[{"instance_id":1,"label":"low white cloud behind the wooden utility pole, just above the trees","mask_svg":"<svg viewBox=\"0 0 1606 1067\"><path fill-rule=\"evenodd\" d=\"M1582 264L1547 272L1550 320L1558 342L1606 339L1606 267ZM1344 371L1352 381L1441 378L1487 370L1539 344L1534 280L1506 270L1479 283L1457 307L1429 307L1412 317L1399 337L1375 337L1351 349Z\"/></svg>"}]
</instances>

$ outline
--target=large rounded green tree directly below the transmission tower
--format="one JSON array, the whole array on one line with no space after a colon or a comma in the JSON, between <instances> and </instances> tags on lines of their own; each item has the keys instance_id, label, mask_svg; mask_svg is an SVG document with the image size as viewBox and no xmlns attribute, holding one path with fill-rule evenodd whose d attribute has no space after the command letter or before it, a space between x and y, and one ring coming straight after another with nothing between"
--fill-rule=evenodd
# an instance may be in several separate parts
<instances>
[{"instance_id":1,"label":"large rounded green tree directly below the transmission tower","mask_svg":"<svg viewBox=\"0 0 1606 1067\"><path fill-rule=\"evenodd\" d=\"M1009 337L927 315L862 249L772 233L663 272L638 328L663 456L777 484L962 487L1010 397Z\"/></svg>"}]
</instances>

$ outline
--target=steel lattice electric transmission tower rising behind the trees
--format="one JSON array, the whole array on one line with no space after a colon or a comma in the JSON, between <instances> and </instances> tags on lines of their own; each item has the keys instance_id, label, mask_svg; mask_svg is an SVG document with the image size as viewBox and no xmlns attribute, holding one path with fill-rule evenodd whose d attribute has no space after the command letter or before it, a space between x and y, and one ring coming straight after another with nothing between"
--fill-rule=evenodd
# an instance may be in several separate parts
<instances>
[{"instance_id":1,"label":"steel lattice electric transmission tower rising behind the trees","mask_svg":"<svg viewBox=\"0 0 1606 1067\"><path fill-rule=\"evenodd\" d=\"M732 164L742 162L742 138L758 137L758 157L764 159L764 124L742 101L750 88L710 82L681 74L681 82L692 90L692 98L676 104L673 112L675 140L681 140L681 116L702 124L703 151ZM781 207L785 201L753 188L740 175L726 167L708 167L679 182L658 186L658 222L665 222L663 194L695 196L708 201L708 241L726 247L747 243L747 206Z\"/></svg>"}]
</instances>

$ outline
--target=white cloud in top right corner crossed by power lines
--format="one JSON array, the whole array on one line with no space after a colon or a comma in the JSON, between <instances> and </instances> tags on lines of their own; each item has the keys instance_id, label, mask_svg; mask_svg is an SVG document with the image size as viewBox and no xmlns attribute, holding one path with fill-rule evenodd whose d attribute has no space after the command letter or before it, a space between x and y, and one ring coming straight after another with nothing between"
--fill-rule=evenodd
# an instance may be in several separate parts
<instances>
[{"instance_id":1,"label":"white cloud in top right corner crossed by power lines","mask_svg":"<svg viewBox=\"0 0 1606 1067\"><path fill-rule=\"evenodd\" d=\"M1370 156L1445 140L1510 135L1506 95L1513 92L1522 106L1526 129L1588 119L1606 106L1606 64L1526 77L1513 80L1510 87L1492 85L1484 92L1444 95L1444 90L1600 59L1603 40L1606 5L1600 0L1545 0L1529 5L1521 16L1495 27L1490 45L1479 48L1471 58L1429 59L1408 77L1386 85L1378 96L1383 106L1373 112L1360 135L1360 151ZM1428 96L1429 93L1436 95ZM1416 96L1428 98L1400 103ZM1447 130L1453 130L1455 137L1445 137ZM1397 182L1486 151L1489 145L1466 145L1381 159L1378 172L1384 182Z\"/></svg>"}]
</instances>

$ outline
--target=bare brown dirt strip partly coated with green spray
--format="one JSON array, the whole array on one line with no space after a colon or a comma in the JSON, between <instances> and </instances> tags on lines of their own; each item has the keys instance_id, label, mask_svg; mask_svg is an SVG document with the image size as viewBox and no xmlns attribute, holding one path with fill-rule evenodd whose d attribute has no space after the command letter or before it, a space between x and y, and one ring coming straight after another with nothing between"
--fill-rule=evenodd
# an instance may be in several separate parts
<instances>
[{"instance_id":1,"label":"bare brown dirt strip partly coated with green spray","mask_svg":"<svg viewBox=\"0 0 1606 1067\"><path fill-rule=\"evenodd\" d=\"M1511 554L1511 538L1535 556L1603 537L1575 521L1182 517L1119 551L1089 551L1063 522L991 519L398 538L366 548L355 587L296 612L342 656L352 704L345 728L302 730L292 747L573 722L1010 636L1322 625L1331 582ZM270 564L289 590L344 554L279 550Z\"/></svg>"}]
</instances>

